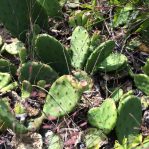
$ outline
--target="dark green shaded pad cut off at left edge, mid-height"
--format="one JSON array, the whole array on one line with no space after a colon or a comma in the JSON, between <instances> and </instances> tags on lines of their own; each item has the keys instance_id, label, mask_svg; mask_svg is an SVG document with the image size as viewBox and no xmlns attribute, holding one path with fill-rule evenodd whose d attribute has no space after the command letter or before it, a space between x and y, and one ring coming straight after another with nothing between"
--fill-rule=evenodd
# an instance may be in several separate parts
<instances>
[{"instance_id":1,"label":"dark green shaded pad cut off at left edge, mid-height","mask_svg":"<svg viewBox=\"0 0 149 149\"><path fill-rule=\"evenodd\" d=\"M0 59L0 72L9 72L12 75L16 73L16 66L10 61L3 58Z\"/></svg>"}]
</instances>

